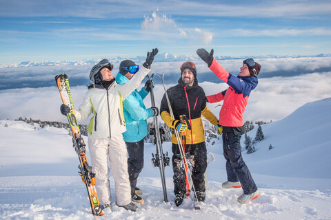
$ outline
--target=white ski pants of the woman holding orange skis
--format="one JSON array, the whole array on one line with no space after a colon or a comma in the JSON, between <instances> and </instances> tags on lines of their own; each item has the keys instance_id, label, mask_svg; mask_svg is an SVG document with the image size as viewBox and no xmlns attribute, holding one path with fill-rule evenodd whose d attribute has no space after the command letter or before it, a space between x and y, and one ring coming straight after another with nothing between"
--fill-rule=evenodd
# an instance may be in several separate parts
<instances>
[{"instance_id":1,"label":"white ski pants of the woman holding orange skis","mask_svg":"<svg viewBox=\"0 0 331 220\"><path fill-rule=\"evenodd\" d=\"M125 206L131 201L131 188L128 175L128 159L126 143L123 136L117 135L111 138L88 138L88 148L95 173L95 187L97 189L101 205L110 204L109 166L115 181L116 203Z\"/></svg>"}]
</instances>

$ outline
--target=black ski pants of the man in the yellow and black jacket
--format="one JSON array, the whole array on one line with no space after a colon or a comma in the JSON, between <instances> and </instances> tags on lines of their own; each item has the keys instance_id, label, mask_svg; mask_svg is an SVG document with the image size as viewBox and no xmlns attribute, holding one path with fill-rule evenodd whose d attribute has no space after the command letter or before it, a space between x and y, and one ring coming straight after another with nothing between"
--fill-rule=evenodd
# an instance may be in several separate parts
<instances>
[{"instance_id":1,"label":"black ski pants of the man in the yellow and black jacket","mask_svg":"<svg viewBox=\"0 0 331 220\"><path fill-rule=\"evenodd\" d=\"M174 170L174 194L186 192L185 166L179 153L179 145L172 144L172 169ZM192 181L196 191L205 192L205 170L207 169L207 149L205 142L185 146L187 161L192 159ZM190 179L189 179L190 181Z\"/></svg>"}]
</instances>

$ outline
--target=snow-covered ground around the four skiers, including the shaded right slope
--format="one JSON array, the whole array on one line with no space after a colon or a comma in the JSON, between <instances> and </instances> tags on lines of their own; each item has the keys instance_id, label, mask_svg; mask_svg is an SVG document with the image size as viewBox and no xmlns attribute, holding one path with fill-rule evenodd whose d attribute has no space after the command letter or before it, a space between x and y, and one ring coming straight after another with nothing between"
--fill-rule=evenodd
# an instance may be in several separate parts
<instances>
[{"instance_id":1,"label":"snow-covered ground around the four skiers, including the shaded right slope","mask_svg":"<svg viewBox=\"0 0 331 220\"><path fill-rule=\"evenodd\" d=\"M194 210L190 199L178 208L174 205L169 166L169 202L163 202L159 169L150 162L155 146L146 143L138 179L145 204L130 212L112 203L107 217L90 213L68 131L0 120L0 219L331 219L330 110L331 98L326 98L261 125L265 139L256 144L257 151L243 151L260 196L245 205L237 202L241 188L221 187L226 180L221 140L207 147L215 161L208 164L207 198L201 210ZM257 126L248 135L254 138L256 132ZM170 142L163 143L163 150L172 155ZM114 201L112 177L110 184Z\"/></svg>"}]
</instances>

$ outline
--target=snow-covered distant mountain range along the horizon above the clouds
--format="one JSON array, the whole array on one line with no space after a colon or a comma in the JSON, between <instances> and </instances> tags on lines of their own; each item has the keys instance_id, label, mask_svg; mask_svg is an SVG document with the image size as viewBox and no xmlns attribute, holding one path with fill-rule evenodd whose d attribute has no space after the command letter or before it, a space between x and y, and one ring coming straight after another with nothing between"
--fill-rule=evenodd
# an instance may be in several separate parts
<instances>
[{"instance_id":1,"label":"snow-covered distant mountain range along the horizon above the clouds","mask_svg":"<svg viewBox=\"0 0 331 220\"><path fill-rule=\"evenodd\" d=\"M318 54L318 55L294 55L294 56L275 56L275 55L266 55L266 56L250 56L252 58L303 58L303 57L328 57L331 54ZM248 56L214 56L217 60L237 60L237 59L244 59L248 58ZM136 56L134 58L128 58L132 61L143 61L146 56ZM111 63L120 63L123 61L120 56L117 58L108 58ZM200 60L198 56L192 55L181 55L176 56L174 54L169 54L165 52L163 54L157 54L155 56L154 61L156 62L175 62L175 61L197 61ZM88 61L42 61L42 62L31 62L31 61L24 61L19 64L14 63L10 65L0 65L0 68L6 67L38 67L38 66L77 66L77 65L94 65L98 63L100 59L93 59Z\"/></svg>"}]
</instances>

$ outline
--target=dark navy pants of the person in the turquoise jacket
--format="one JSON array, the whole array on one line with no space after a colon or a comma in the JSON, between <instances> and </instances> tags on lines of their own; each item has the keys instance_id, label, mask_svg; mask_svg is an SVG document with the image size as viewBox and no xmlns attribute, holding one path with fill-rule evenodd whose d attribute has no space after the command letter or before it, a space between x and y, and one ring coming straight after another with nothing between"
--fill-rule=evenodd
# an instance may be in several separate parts
<instances>
[{"instance_id":1,"label":"dark navy pants of the person in the turquoise jacket","mask_svg":"<svg viewBox=\"0 0 331 220\"><path fill-rule=\"evenodd\" d=\"M131 185L131 196L135 194L139 173L143 169L143 140L139 142L126 142L128 149L128 173Z\"/></svg>"}]
</instances>

